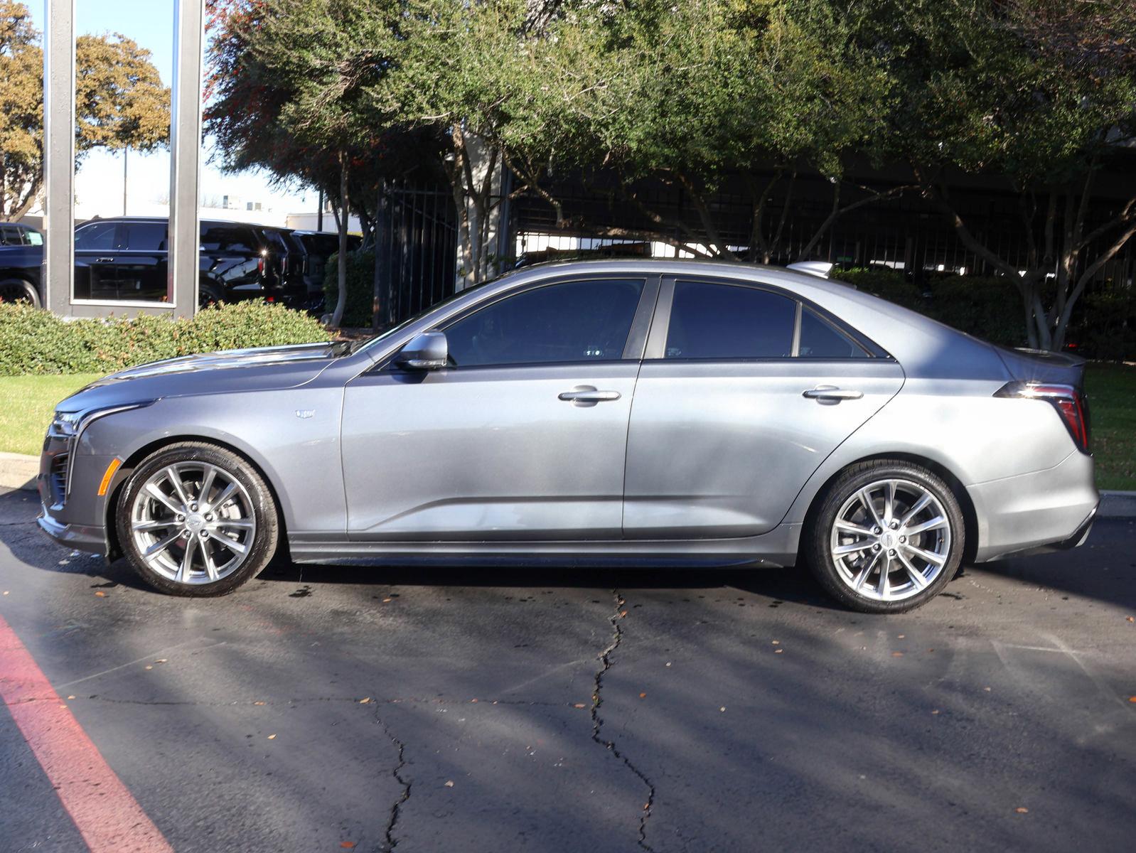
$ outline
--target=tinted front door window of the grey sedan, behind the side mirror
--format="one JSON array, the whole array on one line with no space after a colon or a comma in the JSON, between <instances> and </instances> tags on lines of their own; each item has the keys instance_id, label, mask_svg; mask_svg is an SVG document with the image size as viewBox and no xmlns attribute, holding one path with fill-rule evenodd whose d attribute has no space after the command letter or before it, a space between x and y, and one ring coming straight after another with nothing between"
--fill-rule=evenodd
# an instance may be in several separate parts
<instances>
[{"instance_id":1,"label":"tinted front door window of the grey sedan, behind the side mirror","mask_svg":"<svg viewBox=\"0 0 1136 853\"><path fill-rule=\"evenodd\" d=\"M445 329L458 367L623 358L641 281L565 282L506 296Z\"/></svg>"}]
</instances>

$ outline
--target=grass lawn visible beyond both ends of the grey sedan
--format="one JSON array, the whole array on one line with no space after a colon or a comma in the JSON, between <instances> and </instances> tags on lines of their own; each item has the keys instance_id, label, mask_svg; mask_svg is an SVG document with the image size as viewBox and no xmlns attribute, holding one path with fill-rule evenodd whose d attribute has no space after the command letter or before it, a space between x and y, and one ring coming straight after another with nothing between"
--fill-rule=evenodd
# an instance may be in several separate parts
<instances>
[{"instance_id":1,"label":"grass lawn visible beyond both ends of the grey sedan","mask_svg":"<svg viewBox=\"0 0 1136 853\"><path fill-rule=\"evenodd\" d=\"M93 374L0 377L0 451L37 454L56 403ZM1136 366L1093 363L1086 391L1100 488L1136 490Z\"/></svg>"}]
</instances>

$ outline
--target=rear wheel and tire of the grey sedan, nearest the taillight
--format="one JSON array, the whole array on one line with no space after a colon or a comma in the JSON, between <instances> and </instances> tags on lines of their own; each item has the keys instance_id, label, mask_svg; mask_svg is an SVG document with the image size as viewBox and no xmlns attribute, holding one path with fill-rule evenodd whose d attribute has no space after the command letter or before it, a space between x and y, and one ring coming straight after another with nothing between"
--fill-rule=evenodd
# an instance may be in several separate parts
<instances>
[{"instance_id":1,"label":"rear wheel and tire of the grey sedan, nearest the taillight","mask_svg":"<svg viewBox=\"0 0 1136 853\"><path fill-rule=\"evenodd\" d=\"M837 477L803 544L813 575L834 599L861 613L900 613L926 604L955 576L964 527L959 501L941 477L880 459Z\"/></svg>"}]
</instances>

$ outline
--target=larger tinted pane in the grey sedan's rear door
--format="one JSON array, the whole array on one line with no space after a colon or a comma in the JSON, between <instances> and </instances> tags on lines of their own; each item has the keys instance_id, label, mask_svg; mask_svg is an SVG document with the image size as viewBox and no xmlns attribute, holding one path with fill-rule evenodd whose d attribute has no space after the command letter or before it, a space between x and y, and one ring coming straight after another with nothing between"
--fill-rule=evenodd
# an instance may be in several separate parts
<instances>
[{"instance_id":1,"label":"larger tinted pane in the grey sedan's rear door","mask_svg":"<svg viewBox=\"0 0 1136 853\"><path fill-rule=\"evenodd\" d=\"M669 359L788 358L796 303L754 287L676 282Z\"/></svg>"}]
</instances>

